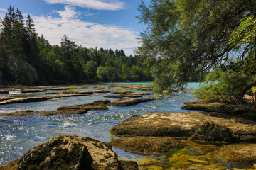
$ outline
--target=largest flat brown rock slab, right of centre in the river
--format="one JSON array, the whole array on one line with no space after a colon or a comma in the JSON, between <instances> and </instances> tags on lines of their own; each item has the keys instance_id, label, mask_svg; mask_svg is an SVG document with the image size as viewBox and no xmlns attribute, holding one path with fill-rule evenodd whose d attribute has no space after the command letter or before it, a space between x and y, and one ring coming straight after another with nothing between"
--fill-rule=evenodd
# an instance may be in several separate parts
<instances>
[{"instance_id":1,"label":"largest flat brown rock slab, right of centre in the river","mask_svg":"<svg viewBox=\"0 0 256 170\"><path fill-rule=\"evenodd\" d=\"M205 123L211 123L209 130L202 128ZM199 130L199 128L202 128ZM204 113L187 112L187 113L150 113L144 115L133 115L131 118L124 120L122 123L115 125L111 129L113 135L120 137L132 136L154 136L154 137L185 137L189 138L198 132L198 140L209 141L209 134L228 134L228 132L220 132L219 130L230 130L233 142L250 142L256 140L256 123L247 120L240 123L232 118L218 118ZM203 134L205 132L205 134ZM205 135L205 138L201 138ZM231 137L231 139L232 139ZM225 139L225 137L216 136L214 139ZM232 142L232 141L218 141Z\"/></svg>"}]
</instances>

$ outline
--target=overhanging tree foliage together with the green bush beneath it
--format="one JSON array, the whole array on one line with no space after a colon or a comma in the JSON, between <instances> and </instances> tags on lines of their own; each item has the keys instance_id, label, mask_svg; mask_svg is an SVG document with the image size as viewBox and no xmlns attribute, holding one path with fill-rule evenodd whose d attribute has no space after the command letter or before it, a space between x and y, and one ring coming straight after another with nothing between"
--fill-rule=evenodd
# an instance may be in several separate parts
<instances>
[{"instance_id":1,"label":"overhanging tree foliage together with the green bush beneath it","mask_svg":"<svg viewBox=\"0 0 256 170\"><path fill-rule=\"evenodd\" d=\"M238 100L247 84L256 85L256 1L151 0L149 4L142 1L138 9L137 18L147 29L141 33L137 54L146 56L149 63L154 61L159 91L181 90L186 81L223 65L229 65L229 70L210 73L208 86L201 90L210 96L201 93L200 98L218 99L220 95Z\"/></svg>"}]
</instances>

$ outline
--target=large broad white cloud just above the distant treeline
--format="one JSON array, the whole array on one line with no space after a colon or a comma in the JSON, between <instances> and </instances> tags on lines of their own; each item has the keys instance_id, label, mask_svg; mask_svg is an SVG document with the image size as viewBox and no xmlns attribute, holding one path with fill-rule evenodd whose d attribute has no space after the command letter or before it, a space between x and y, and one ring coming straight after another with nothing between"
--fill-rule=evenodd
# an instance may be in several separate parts
<instances>
[{"instance_id":1,"label":"large broad white cloud just above the distant treeline","mask_svg":"<svg viewBox=\"0 0 256 170\"><path fill-rule=\"evenodd\" d=\"M50 42L59 45L66 34L68 38L82 47L102 47L115 50L123 49L130 55L134 47L138 46L136 33L120 26L107 26L98 23L82 21L80 13L75 8L65 6L65 11L57 11L60 18L52 16L33 16L37 33ZM127 50L126 50L127 49Z\"/></svg>"}]
</instances>

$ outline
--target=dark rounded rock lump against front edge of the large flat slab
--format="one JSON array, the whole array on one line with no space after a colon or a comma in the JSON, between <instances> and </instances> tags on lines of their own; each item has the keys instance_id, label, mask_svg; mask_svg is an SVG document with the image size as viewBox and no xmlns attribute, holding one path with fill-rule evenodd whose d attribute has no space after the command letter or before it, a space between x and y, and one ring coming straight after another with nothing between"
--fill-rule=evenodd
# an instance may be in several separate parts
<instances>
[{"instance_id":1,"label":"dark rounded rock lump against front edge of the large flat slab","mask_svg":"<svg viewBox=\"0 0 256 170\"><path fill-rule=\"evenodd\" d=\"M211 122L200 125L198 130L189 139L215 142L235 142L236 140L229 128Z\"/></svg>"}]
</instances>

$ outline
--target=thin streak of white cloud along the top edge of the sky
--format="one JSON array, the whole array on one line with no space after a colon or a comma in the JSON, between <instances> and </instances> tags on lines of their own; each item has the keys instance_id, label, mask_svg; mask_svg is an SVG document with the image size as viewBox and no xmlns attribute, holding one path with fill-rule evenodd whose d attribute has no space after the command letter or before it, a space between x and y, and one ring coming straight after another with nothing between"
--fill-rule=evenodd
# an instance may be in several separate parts
<instances>
[{"instance_id":1,"label":"thin streak of white cloud along the top edge of the sky","mask_svg":"<svg viewBox=\"0 0 256 170\"><path fill-rule=\"evenodd\" d=\"M99 10L119 10L124 8L124 2L119 0L44 0L48 4L68 4Z\"/></svg>"}]
</instances>

